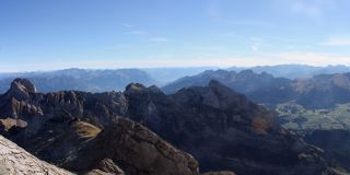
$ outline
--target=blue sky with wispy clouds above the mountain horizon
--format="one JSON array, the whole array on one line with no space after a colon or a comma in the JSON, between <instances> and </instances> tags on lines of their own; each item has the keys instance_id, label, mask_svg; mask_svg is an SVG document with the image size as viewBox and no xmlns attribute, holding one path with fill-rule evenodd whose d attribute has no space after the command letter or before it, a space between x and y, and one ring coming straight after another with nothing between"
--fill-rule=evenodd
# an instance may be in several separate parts
<instances>
[{"instance_id":1,"label":"blue sky with wispy clouds above the mountain horizon","mask_svg":"<svg viewBox=\"0 0 350 175\"><path fill-rule=\"evenodd\" d=\"M0 71L350 65L349 0L0 0Z\"/></svg>"}]
</instances>

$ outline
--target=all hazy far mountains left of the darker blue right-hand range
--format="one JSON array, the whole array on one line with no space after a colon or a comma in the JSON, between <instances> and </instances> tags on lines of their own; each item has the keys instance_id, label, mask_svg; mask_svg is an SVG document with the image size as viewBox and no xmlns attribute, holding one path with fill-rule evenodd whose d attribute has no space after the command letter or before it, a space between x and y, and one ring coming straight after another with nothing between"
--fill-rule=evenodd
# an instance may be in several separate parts
<instances>
[{"instance_id":1,"label":"all hazy far mountains left of the darker blue right-hand range","mask_svg":"<svg viewBox=\"0 0 350 175\"><path fill-rule=\"evenodd\" d=\"M0 73L0 93L4 93L15 78L25 78L37 84L40 92L65 90L106 92L122 91L132 82L145 85L164 85L185 75L194 75L214 67L199 68L144 68L144 69L65 69L57 71L35 71Z\"/></svg>"}]
</instances>

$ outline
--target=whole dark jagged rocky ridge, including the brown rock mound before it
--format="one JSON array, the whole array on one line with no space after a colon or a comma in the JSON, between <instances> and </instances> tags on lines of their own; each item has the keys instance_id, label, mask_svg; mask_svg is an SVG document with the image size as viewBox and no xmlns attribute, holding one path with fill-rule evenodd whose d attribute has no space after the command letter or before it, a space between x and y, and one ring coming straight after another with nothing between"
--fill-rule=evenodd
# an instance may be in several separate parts
<instances>
[{"instance_id":1,"label":"whole dark jagged rocky ridge, including the brown rock mound before it","mask_svg":"<svg viewBox=\"0 0 350 175\"><path fill-rule=\"evenodd\" d=\"M126 174L198 174L197 162L159 135L194 155L202 172L331 172L322 150L304 143L281 128L264 107L217 81L173 95L142 84L129 84L122 93L23 91L28 97L16 98L22 90L0 96L2 118L27 124L8 126L3 135L40 159L69 170L93 171L107 159ZM33 113L10 103L13 101L32 106Z\"/></svg>"}]
</instances>

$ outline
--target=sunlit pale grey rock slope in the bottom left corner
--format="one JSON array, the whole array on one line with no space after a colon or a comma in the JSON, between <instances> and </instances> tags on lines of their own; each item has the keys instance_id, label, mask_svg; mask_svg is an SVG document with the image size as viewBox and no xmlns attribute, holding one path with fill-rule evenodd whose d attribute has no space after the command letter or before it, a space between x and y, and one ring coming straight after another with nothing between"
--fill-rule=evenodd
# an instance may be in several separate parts
<instances>
[{"instance_id":1,"label":"sunlit pale grey rock slope in the bottom left corner","mask_svg":"<svg viewBox=\"0 0 350 175\"><path fill-rule=\"evenodd\" d=\"M43 162L0 136L0 174L55 174L72 173Z\"/></svg>"}]
</instances>

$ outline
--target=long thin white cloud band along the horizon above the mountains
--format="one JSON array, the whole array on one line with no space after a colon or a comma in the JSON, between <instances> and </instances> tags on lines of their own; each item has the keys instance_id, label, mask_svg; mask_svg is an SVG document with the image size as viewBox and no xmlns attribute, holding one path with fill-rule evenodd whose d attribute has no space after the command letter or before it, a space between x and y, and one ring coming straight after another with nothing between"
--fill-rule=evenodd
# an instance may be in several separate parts
<instances>
[{"instance_id":1,"label":"long thin white cloud band along the horizon above the mountains","mask_svg":"<svg viewBox=\"0 0 350 175\"><path fill-rule=\"evenodd\" d=\"M166 58L165 58L166 57ZM198 56L188 58L174 58L175 56L154 56L149 59L98 59L83 61L56 61L47 63L25 63L13 66L0 66L4 72L10 71L34 71L34 70L54 70L66 68L85 68L85 69L114 69L114 68L152 68L152 67L253 67L253 66L275 66L288 63L304 63L311 66L342 65L350 66L350 57L322 52L280 52L273 55L257 56ZM207 58L208 57L208 58Z\"/></svg>"}]
</instances>

